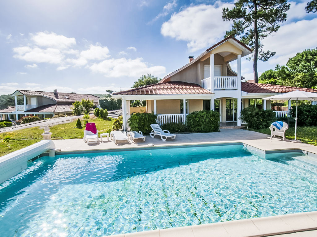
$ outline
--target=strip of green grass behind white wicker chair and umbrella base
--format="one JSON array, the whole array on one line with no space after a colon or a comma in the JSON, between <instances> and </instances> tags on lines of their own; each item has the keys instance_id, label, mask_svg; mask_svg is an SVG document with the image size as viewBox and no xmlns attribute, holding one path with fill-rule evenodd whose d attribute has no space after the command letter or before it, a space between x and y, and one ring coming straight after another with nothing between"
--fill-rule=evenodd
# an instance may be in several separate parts
<instances>
[{"instance_id":1,"label":"strip of green grass behind white wicker chair and umbrella base","mask_svg":"<svg viewBox=\"0 0 317 237\"><path fill-rule=\"evenodd\" d=\"M271 135L269 128L267 129L249 129L264 134ZM285 131L285 137L289 140L295 139L295 128L288 128ZM317 146L317 126L297 127L297 140Z\"/></svg>"}]
</instances>

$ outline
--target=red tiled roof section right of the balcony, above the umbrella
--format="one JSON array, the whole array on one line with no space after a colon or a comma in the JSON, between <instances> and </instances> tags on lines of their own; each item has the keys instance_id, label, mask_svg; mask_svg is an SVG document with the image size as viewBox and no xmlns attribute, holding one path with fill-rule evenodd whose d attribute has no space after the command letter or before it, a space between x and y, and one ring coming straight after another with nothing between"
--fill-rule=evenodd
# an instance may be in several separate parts
<instances>
[{"instance_id":1,"label":"red tiled roof section right of the balcony, above the umbrella","mask_svg":"<svg viewBox=\"0 0 317 237\"><path fill-rule=\"evenodd\" d=\"M315 89L241 82L241 90L247 93L286 93L294 90L317 92Z\"/></svg>"}]
</instances>

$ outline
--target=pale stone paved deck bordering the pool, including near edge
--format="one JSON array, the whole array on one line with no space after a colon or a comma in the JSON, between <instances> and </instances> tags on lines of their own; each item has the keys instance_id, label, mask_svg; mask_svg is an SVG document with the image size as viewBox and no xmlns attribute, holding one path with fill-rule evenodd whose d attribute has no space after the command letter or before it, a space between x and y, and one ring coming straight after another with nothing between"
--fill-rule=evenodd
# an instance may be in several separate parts
<instances>
[{"instance_id":1,"label":"pale stone paved deck bordering the pool, including near edge","mask_svg":"<svg viewBox=\"0 0 317 237\"><path fill-rule=\"evenodd\" d=\"M87 145L83 139L53 140L56 149L63 152L79 152L87 150L109 150L149 147L167 147L176 145L218 144L218 143L244 143L262 152L275 150L303 150L308 154L317 154L317 146L305 143L292 143L280 138L269 139L266 134L247 131L243 129L222 129L221 132L179 134L175 140L161 141L159 136L151 138L146 136L146 142L136 143L119 142L114 144L104 138L103 142ZM57 152L59 153L59 152ZM314 155L315 156L315 155ZM316 237L317 211L288 214L282 216L269 216L237 221L210 223L197 226L160 229L129 234L112 235L112 237Z\"/></svg>"}]
</instances>

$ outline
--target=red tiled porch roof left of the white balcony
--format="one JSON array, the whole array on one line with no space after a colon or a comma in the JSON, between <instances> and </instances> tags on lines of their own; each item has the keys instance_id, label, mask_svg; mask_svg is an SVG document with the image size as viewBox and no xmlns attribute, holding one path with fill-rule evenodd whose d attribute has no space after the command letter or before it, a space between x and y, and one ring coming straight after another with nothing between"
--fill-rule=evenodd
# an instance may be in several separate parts
<instances>
[{"instance_id":1,"label":"red tiled porch roof left of the white balcony","mask_svg":"<svg viewBox=\"0 0 317 237\"><path fill-rule=\"evenodd\" d=\"M213 94L198 84L188 82L163 82L120 91L113 95L152 95L152 94Z\"/></svg>"}]
</instances>

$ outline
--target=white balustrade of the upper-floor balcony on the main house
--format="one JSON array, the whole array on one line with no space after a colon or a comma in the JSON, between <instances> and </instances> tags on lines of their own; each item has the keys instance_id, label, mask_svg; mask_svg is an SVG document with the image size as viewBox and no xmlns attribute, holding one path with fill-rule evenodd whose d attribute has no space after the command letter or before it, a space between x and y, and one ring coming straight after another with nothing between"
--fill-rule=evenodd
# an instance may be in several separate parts
<instances>
[{"instance_id":1,"label":"white balustrade of the upper-floor balcony on the main house","mask_svg":"<svg viewBox=\"0 0 317 237\"><path fill-rule=\"evenodd\" d=\"M211 90L210 77L201 80L201 86L207 90ZM214 89L238 89L238 77L237 76L215 76L214 77Z\"/></svg>"}]
</instances>

